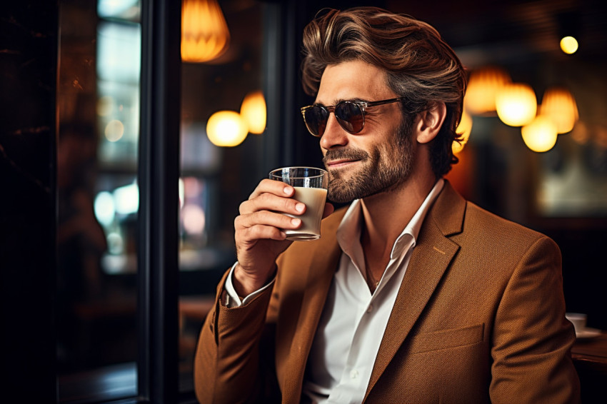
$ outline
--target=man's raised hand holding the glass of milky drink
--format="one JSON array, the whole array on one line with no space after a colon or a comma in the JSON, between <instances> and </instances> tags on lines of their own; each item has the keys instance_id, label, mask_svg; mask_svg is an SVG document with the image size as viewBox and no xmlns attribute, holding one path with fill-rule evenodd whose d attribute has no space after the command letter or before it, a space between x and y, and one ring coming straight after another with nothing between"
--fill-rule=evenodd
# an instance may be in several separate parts
<instances>
[{"instance_id":1,"label":"man's raised hand holding the glass of milky drink","mask_svg":"<svg viewBox=\"0 0 607 404\"><path fill-rule=\"evenodd\" d=\"M295 189L281 181L262 180L249 200L241 203L240 216L234 220L234 240L239 264L234 269L234 288L239 296L247 296L264 286L276 269L276 258L292 241L284 230L301 226L299 218L306 206L291 197ZM333 213L331 203L325 204L323 218Z\"/></svg>"}]
</instances>

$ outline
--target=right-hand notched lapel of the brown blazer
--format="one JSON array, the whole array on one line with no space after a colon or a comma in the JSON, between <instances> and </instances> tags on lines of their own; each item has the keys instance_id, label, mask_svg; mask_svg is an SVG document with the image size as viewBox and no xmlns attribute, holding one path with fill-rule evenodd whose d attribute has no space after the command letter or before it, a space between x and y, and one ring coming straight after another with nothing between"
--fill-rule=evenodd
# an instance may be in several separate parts
<instances>
[{"instance_id":1,"label":"right-hand notched lapel of the brown blazer","mask_svg":"<svg viewBox=\"0 0 607 404\"><path fill-rule=\"evenodd\" d=\"M466 201L445 181L418 235L378 350L366 395L381 376L426 307L459 246L446 236L461 232ZM366 397L365 397L366 398Z\"/></svg>"}]
</instances>

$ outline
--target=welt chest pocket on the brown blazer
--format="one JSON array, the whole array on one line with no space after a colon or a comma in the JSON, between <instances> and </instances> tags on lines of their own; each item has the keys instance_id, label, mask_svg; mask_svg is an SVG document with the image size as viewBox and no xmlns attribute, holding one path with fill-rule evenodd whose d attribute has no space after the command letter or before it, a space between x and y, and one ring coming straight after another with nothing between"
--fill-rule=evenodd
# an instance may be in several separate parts
<instances>
[{"instance_id":1,"label":"welt chest pocket on the brown blazer","mask_svg":"<svg viewBox=\"0 0 607 404\"><path fill-rule=\"evenodd\" d=\"M457 348L472 345L483 341L485 324L472 325L466 328L453 328L451 330L438 330L432 333L420 333L411 338L409 352L423 353L432 350Z\"/></svg>"}]
</instances>

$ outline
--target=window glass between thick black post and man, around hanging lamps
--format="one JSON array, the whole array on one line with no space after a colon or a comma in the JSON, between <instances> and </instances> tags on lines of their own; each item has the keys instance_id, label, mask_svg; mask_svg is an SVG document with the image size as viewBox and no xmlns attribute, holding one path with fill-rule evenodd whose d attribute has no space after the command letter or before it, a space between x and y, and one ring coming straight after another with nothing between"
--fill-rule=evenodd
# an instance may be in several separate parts
<instances>
[{"instance_id":1,"label":"window glass between thick black post and man, around hanging lamps","mask_svg":"<svg viewBox=\"0 0 607 404\"><path fill-rule=\"evenodd\" d=\"M253 126L237 146L216 146L207 126L219 111L241 113L244 99L262 90L262 18L258 1L219 1L229 29L229 46L204 63L181 69L180 181L180 370L181 388L192 388L196 338L214 300L216 284L231 266L234 217L241 201L263 175L262 133ZM266 112L254 112L263 118ZM263 126L263 123L262 123ZM226 134L229 129L222 129ZM259 131L258 131L259 132Z\"/></svg>"}]
</instances>

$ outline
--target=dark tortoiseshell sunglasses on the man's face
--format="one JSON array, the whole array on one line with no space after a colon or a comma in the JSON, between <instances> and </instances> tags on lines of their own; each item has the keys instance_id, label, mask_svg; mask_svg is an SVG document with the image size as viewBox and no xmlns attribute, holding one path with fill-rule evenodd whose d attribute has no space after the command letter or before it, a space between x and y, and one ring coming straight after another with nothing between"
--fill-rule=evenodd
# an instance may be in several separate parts
<instances>
[{"instance_id":1,"label":"dark tortoiseshell sunglasses on the man's face","mask_svg":"<svg viewBox=\"0 0 607 404\"><path fill-rule=\"evenodd\" d=\"M404 97L398 97L398 99L373 102L341 101L337 105L331 106L308 105L301 108L301 115L303 116L303 121L306 122L308 131L310 131L313 136L323 136L328 116L331 112L335 113L337 123L339 123L339 126L341 126L344 131L354 134L362 131L365 127L366 108L403 101L404 99Z\"/></svg>"}]
</instances>

